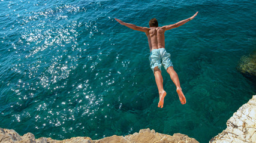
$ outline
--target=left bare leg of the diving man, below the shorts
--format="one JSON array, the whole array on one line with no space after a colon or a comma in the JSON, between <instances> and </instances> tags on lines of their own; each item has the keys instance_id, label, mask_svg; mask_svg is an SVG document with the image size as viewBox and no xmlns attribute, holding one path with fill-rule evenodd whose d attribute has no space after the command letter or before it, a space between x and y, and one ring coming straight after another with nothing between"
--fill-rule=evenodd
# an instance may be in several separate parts
<instances>
[{"instance_id":1,"label":"left bare leg of the diving man, below the shorts","mask_svg":"<svg viewBox=\"0 0 256 143\"><path fill-rule=\"evenodd\" d=\"M158 92L159 92L159 102L158 102L158 107L164 107L164 97L166 95L166 92L164 91L162 82L162 74L161 74L161 70L158 69L158 67L155 67L154 69L154 75L155 75L155 82L158 88Z\"/></svg>"}]
</instances>

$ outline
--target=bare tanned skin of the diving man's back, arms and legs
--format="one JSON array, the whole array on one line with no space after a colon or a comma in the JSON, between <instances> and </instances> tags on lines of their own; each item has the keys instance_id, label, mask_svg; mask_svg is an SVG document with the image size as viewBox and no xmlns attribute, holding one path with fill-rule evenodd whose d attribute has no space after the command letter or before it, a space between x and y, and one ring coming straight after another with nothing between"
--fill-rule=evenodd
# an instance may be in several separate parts
<instances>
[{"instance_id":1,"label":"bare tanned skin of the diving man's back, arms and legs","mask_svg":"<svg viewBox=\"0 0 256 143\"><path fill-rule=\"evenodd\" d=\"M165 31L182 26L183 24L192 20L197 15L197 13L195 13L190 18L179 21L175 24L170 24L170 25L162 26L162 27L149 27L149 28L148 27L140 27L140 26L135 26L134 24L125 23L122 20L119 20L117 18L115 18L115 20L118 21L120 24L129 27L130 29L146 33L147 41L149 42L149 49L150 49L150 51L152 51L152 49L165 48L165 42L164 42L164 32ZM173 80L174 85L176 85L176 92L179 95L179 100L180 100L181 104L185 104L186 98L182 92L182 89L180 88L179 77L177 76L176 71L174 71L173 66L168 67L167 73L170 74L171 80ZM164 107L164 97L166 95L166 92L164 91L164 88L162 85L163 79L162 79L161 70L159 70L158 67L155 67L155 69L154 69L154 76L155 76L155 81L156 81L156 85L158 87L158 92L159 92L158 107L162 108L162 107Z\"/></svg>"}]
</instances>

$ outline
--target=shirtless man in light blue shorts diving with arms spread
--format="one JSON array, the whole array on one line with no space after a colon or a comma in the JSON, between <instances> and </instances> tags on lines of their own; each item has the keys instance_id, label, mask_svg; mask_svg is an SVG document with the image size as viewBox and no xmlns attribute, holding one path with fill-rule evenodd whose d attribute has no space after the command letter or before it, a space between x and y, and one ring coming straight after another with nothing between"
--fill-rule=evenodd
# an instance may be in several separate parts
<instances>
[{"instance_id":1,"label":"shirtless man in light blue shorts diving with arms spread","mask_svg":"<svg viewBox=\"0 0 256 143\"><path fill-rule=\"evenodd\" d=\"M182 89L180 88L179 77L176 71L174 71L173 64L171 63L171 59L170 59L171 55L165 50L164 32L166 30L170 30L170 29L174 29L179 26L182 26L183 24L192 20L197 15L197 13L195 13L190 18L179 21L175 24L170 24L162 27L158 27L158 21L156 20L156 18L152 18L149 21L149 28L135 26L134 24L125 23L115 18L116 21L118 21L120 24L124 26L127 26L133 30L146 33L147 40L149 42L149 49L150 49L150 56L149 56L150 67L153 71L153 74L155 75L155 82L159 92L158 107L161 107L161 108L164 107L164 97L166 95L166 92L164 91L164 88L162 85L163 83L162 74L161 74L162 66L164 66L164 69L167 70L168 74L170 74L171 80L173 80L173 83L176 85L176 88L177 88L176 91L177 91L177 94L179 95L179 100L181 104L186 103L186 98L182 92Z\"/></svg>"}]
</instances>

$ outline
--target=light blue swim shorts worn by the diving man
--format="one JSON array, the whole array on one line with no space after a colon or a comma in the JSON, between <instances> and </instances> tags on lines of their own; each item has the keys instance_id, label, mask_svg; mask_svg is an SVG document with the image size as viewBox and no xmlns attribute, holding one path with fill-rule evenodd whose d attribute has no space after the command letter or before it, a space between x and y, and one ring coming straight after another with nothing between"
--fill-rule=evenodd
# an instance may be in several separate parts
<instances>
[{"instance_id":1,"label":"light blue swim shorts worn by the diving man","mask_svg":"<svg viewBox=\"0 0 256 143\"><path fill-rule=\"evenodd\" d=\"M149 55L150 68L153 72L155 67L161 70L161 67L164 66L164 69L167 70L168 67L173 66L170 57L171 54L166 52L165 48L152 49Z\"/></svg>"}]
</instances>

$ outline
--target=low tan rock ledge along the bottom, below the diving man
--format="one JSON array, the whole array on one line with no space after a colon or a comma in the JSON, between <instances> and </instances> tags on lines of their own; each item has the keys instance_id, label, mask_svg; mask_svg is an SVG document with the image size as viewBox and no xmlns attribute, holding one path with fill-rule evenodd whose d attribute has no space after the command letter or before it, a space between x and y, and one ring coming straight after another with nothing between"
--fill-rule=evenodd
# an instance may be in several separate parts
<instances>
[{"instance_id":1,"label":"low tan rock ledge along the bottom, below the diving man","mask_svg":"<svg viewBox=\"0 0 256 143\"><path fill-rule=\"evenodd\" d=\"M26 143L26 142L37 142L37 143L116 143L116 142L147 142L147 143L164 143L164 142L173 142L173 143L199 143L194 138L189 138L187 135L180 133L174 133L173 136L165 135L162 133L157 133L155 130L150 129L141 129L140 132L136 132L132 135L127 136L110 136L103 139L92 140L89 137L75 137L71 139L64 139L58 141L52 138L38 138L35 139L35 136L32 133L26 133L23 136L20 136L15 130L2 129L0 128L0 142L10 142L10 143Z\"/></svg>"}]
</instances>

